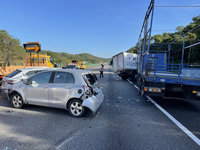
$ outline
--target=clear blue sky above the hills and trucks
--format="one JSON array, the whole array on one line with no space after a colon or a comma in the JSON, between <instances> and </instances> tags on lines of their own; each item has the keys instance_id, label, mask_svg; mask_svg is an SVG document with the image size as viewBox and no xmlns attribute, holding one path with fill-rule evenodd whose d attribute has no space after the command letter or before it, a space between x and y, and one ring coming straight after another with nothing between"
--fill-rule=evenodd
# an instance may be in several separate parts
<instances>
[{"instance_id":1,"label":"clear blue sky above the hills and trucks","mask_svg":"<svg viewBox=\"0 0 200 150\"><path fill-rule=\"evenodd\" d=\"M21 43L71 54L113 55L135 46L150 0L1 0L0 29ZM155 5L200 5L199 0L155 0ZM200 8L155 8L155 30L175 30Z\"/></svg>"}]
</instances>

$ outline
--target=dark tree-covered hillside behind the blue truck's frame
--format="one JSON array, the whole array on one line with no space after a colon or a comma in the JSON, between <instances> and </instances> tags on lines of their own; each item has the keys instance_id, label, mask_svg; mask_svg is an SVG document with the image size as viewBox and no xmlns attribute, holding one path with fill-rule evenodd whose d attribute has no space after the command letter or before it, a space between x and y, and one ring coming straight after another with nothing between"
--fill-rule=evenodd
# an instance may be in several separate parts
<instances>
[{"instance_id":1,"label":"dark tree-covered hillside behind the blue truck's frame","mask_svg":"<svg viewBox=\"0 0 200 150\"><path fill-rule=\"evenodd\" d=\"M186 26L178 26L176 32L174 33L163 33L156 34L151 37L151 49L153 45L160 45L160 47L155 48L154 50L167 50L168 44L172 41L175 41L171 45L171 57L174 58L174 63L180 63L180 58L182 54L182 46L184 38L181 37L189 30L198 27L200 25L200 15L192 18L192 22ZM185 46L200 42L200 27L193 32L185 36ZM131 47L127 52L137 53L137 47ZM200 45L192 47L185 50L184 63L190 64L200 64Z\"/></svg>"}]
</instances>

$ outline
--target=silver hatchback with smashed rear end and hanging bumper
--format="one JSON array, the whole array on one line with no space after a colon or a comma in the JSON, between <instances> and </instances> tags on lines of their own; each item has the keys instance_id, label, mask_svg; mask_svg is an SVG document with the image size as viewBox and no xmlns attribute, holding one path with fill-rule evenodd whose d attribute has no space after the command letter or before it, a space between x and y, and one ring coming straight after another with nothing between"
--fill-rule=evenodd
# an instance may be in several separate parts
<instances>
[{"instance_id":1,"label":"silver hatchback with smashed rear end and hanging bumper","mask_svg":"<svg viewBox=\"0 0 200 150\"><path fill-rule=\"evenodd\" d=\"M85 108L95 113L104 99L96 80L89 71L52 69L16 83L7 95L15 108L24 104L55 107L81 117Z\"/></svg>"}]
</instances>

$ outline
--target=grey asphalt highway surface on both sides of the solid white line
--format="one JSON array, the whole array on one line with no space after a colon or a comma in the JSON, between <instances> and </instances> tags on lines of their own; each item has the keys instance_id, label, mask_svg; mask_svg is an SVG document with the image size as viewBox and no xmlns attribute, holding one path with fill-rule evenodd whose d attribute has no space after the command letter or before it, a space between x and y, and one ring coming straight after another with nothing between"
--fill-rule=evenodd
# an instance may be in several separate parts
<instances>
[{"instance_id":1,"label":"grey asphalt highway surface on both sides of the solid white line","mask_svg":"<svg viewBox=\"0 0 200 150\"><path fill-rule=\"evenodd\" d=\"M200 149L133 85L116 80L111 68L99 82L104 102L96 115L88 112L83 118L54 108L14 109L1 94L0 150ZM156 101L189 129L199 131L198 102Z\"/></svg>"}]
</instances>

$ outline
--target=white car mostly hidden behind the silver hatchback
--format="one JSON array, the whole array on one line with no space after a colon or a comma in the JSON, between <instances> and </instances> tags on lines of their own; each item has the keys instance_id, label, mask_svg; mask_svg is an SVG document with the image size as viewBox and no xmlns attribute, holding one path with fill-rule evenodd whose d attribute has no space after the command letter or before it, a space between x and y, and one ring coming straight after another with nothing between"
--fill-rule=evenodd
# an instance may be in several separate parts
<instances>
[{"instance_id":1,"label":"white car mostly hidden behind the silver hatchback","mask_svg":"<svg viewBox=\"0 0 200 150\"><path fill-rule=\"evenodd\" d=\"M8 93L8 90L11 89L13 84L15 84L16 82L20 82L36 73L39 73L47 69L49 68L48 67L29 67L29 68L17 69L3 78L1 89L5 93Z\"/></svg>"}]
</instances>

